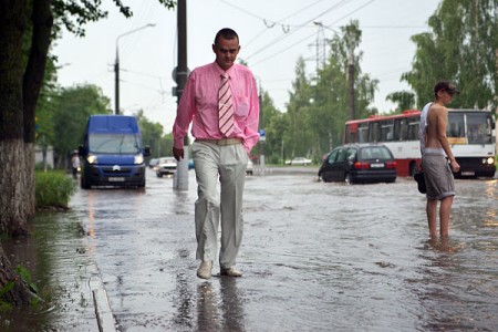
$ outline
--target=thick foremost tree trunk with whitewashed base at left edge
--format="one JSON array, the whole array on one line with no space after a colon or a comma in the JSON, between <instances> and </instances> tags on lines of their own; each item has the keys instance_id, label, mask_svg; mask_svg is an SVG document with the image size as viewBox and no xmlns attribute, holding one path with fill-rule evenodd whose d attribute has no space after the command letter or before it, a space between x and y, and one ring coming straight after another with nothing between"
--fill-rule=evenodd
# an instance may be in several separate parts
<instances>
[{"instance_id":1,"label":"thick foremost tree trunk with whitewashed base at left edge","mask_svg":"<svg viewBox=\"0 0 498 332\"><path fill-rule=\"evenodd\" d=\"M0 232L24 232L22 35L25 2L0 2Z\"/></svg>"}]
</instances>

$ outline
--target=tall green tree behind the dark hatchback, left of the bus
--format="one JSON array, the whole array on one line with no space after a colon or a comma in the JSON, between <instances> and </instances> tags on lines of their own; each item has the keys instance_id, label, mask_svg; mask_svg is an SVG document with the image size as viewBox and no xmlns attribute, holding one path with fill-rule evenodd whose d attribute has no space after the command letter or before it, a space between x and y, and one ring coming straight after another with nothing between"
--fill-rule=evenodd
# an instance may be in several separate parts
<instances>
[{"instance_id":1,"label":"tall green tree behind the dark hatchback, left of the bus","mask_svg":"<svg viewBox=\"0 0 498 332\"><path fill-rule=\"evenodd\" d=\"M361 43L361 31L356 21L341 28L341 31L330 41L331 55L312 80L305 75L303 60L298 61L297 79L286 113L290 125L283 137L286 151L290 152L288 157L305 155L318 162L334 145L342 143L344 123L350 118L349 56L351 49ZM367 116L374 111L369 105L378 84L377 80L362 73L362 52L354 54L356 117Z\"/></svg>"}]
</instances>

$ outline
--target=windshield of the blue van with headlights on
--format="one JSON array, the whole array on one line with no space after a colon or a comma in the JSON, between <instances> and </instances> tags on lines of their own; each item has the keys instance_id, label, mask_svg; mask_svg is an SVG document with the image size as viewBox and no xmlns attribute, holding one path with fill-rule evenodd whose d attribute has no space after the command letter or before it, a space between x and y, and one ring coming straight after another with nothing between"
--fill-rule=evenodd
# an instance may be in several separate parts
<instances>
[{"instance_id":1,"label":"windshield of the blue van with headlights on","mask_svg":"<svg viewBox=\"0 0 498 332\"><path fill-rule=\"evenodd\" d=\"M89 135L89 151L94 154L138 154L137 135L92 134Z\"/></svg>"}]
</instances>

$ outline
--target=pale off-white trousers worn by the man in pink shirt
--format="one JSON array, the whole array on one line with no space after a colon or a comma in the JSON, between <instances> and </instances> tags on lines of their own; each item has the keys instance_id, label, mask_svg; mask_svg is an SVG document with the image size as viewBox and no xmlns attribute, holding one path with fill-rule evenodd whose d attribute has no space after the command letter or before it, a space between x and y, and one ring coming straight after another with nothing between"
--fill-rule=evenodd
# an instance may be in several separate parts
<instances>
[{"instance_id":1,"label":"pale off-white trousers worn by the man in pink shirt","mask_svg":"<svg viewBox=\"0 0 498 332\"><path fill-rule=\"evenodd\" d=\"M195 207L196 258L203 261L216 259L221 215L219 264L228 269L235 266L242 241L247 152L242 144L217 145L198 141L194 142L191 152L198 186Z\"/></svg>"}]
</instances>

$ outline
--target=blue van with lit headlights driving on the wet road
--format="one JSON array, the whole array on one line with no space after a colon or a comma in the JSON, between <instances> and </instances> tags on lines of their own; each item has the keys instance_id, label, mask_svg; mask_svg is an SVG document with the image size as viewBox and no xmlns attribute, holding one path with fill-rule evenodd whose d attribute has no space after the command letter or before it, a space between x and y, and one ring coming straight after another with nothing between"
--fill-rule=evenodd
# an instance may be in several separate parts
<instances>
[{"instance_id":1,"label":"blue van with lit headlights driving on the wet road","mask_svg":"<svg viewBox=\"0 0 498 332\"><path fill-rule=\"evenodd\" d=\"M91 115L80 146L81 187L145 187L144 157L151 148L142 145L135 116Z\"/></svg>"}]
</instances>

